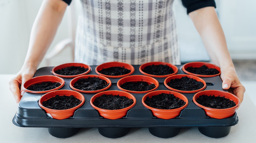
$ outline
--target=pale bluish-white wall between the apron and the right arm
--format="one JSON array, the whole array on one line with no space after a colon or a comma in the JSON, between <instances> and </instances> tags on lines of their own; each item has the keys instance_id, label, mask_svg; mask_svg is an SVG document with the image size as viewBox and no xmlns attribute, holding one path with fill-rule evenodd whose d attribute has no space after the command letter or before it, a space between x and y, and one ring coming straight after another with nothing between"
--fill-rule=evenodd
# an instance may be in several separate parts
<instances>
[{"instance_id":1,"label":"pale bluish-white wall between the apron and the right arm","mask_svg":"<svg viewBox=\"0 0 256 143\"><path fill-rule=\"evenodd\" d=\"M181 50L181 63L190 61L210 61L199 33L187 15L187 9L181 0L175 0L173 11L176 19L178 38Z\"/></svg>"}]
</instances>

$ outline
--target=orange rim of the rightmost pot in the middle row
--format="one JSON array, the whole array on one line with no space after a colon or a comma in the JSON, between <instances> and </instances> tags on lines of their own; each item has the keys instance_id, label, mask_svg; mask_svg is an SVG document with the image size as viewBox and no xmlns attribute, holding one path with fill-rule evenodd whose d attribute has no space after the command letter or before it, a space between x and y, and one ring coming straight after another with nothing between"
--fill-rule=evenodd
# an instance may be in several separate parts
<instances>
[{"instance_id":1,"label":"orange rim of the rightmost pot in the middle row","mask_svg":"<svg viewBox=\"0 0 256 143\"><path fill-rule=\"evenodd\" d=\"M184 77L184 76L189 77L189 78L193 78L193 79L195 79L195 80L197 80L197 81L202 82L202 83L203 83L203 87L200 88L200 89L198 89L198 90L183 91L183 90L174 89L174 88L169 87L169 86L167 85L167 83L170 82L171 79L176 79L176 78L180 79L180 78L182 78L182 77ZM197 77L197 76L194 76L194 75L187 75L187 74L171 75L171 76L167 77L167 78L164 80L163 83L164 83L165 87L167 87L168 89L173 90L173 91L177 91L177 92L182 92L182 93L194 93L194 92L201 91L201 90L203 90L203 89L206 87L206 83L205 83L205 81L204 81L202 78Z\"/></svg>"}]
</instances>

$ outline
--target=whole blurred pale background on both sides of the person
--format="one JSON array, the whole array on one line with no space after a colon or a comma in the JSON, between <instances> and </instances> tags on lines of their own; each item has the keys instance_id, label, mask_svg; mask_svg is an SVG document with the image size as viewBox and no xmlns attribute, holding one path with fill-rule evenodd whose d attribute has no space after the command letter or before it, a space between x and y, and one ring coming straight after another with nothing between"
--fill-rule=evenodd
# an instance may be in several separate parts
<instances>
[{"instance_id":1,"label":"whole blurred pale background on both sides of the person","mask_svg":"<svg viewBox=\"0 0 256 143\"><path fill-rule=\"evenodd\" d=\"M0 0L0 74L16 74L21 69L29 45L32 24L42 1ZM245 85L246 91L252 92L256 86L256 1L215 0L215 2L238 76ZM75 33L76 18L80 10L80 0L73 0L39 68L73 61L74 45L69 42L74 39L72 34ZM210 62L202 40L186 14L181 0L174 1L174 13L181 47L181 62ZM64 45L65 48L63 50L54 48L58 44ZM256 97L251 98L256 101Z\"/></svg>"}]
</instances>

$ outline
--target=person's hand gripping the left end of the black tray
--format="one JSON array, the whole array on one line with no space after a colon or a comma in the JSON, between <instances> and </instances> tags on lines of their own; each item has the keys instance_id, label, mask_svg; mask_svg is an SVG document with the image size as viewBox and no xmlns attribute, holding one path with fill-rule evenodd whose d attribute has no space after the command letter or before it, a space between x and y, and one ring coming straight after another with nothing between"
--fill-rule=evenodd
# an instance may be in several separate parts
<instances>
[{"instance_id":1,"label":"person's hand gripping the left end of the black tray","mask_svg":"<svg viewBox=\"0 0 256 143\"><path fill-rule=\"evenodd\" d=\"M13 97L17 103L20 102L21 97L25 91L21 88L25 81L31 79L36 71L36 67L24 65L21 70L16 74L14 78L9 82L10 90L13 94Z\"/></svg>"}]
</instances>

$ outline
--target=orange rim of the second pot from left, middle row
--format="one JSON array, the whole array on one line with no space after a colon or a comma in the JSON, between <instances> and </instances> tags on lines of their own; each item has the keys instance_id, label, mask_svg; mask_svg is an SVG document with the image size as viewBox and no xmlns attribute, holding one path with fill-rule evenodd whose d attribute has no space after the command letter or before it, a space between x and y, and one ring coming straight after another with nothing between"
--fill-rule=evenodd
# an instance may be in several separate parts
<instances>
[{"instance_id":1,"label":"orange rim of the second pot from left, middle row","mask_svg":"<svg viewBox=\"0 0 256 143\"><path fill-rule=\"evenodd\" d=\"M80 89L76 89L74 86L75 82L77 82L78 79L80 78L89 78L89 77L98 77L100 79L103 79L105 80L107 83L109 83L109 85L103 89L100 89L100 90L93 90L93 91L86 91L86 90L80 90ZM101 76L101 75L94 75L94 74L90 74L90 75L82 75L82 76L78 76L74 79L72 79L69 83L69 86L75 90L75 91L78 91L78 92L83 92L83 93L96 93L96 92L101 92L101 91L104 91L104 90L107 90L109 87L111 87L111 81L110 79L104 77L104 76Z\"/></svg>"}]
</instances>

